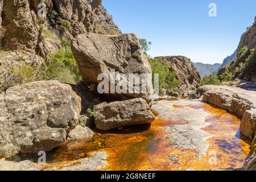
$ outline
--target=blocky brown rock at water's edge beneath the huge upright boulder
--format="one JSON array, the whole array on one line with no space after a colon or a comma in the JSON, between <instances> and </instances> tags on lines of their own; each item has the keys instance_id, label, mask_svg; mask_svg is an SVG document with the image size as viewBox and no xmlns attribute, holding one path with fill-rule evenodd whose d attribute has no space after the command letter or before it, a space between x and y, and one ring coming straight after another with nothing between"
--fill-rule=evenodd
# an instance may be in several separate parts
<instances>
[{"instance_id":1,"label":"blocky brown rock at water's edge beneath the huge upright boulder","mask_svg":"<svg viewBox=\"0 0 256 182\"><path fill-rule=\"evenodd\" d=\"M94 108L94 119L99 130L111 130L116 127L142 125L154 121L147 102L135 98L122 102L103 103Z\"/></svg>"}]
</instances>

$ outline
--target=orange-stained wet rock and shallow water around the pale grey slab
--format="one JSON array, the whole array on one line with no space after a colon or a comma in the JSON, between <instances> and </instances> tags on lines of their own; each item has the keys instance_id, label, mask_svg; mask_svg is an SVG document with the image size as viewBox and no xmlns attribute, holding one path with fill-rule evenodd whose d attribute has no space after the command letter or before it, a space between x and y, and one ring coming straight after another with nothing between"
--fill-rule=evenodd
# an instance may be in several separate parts
<instances>
[{"instance_id":1,"label":"orange-stained wet rock and shallow water around the pale grey slab","mask_svg":"<svg viewBox=\"0 0 256 182\"><path fill-rule=\"evenodd\" d=\"M174 105L176 109L184 106ZM185 106L188 107L188 106ZM84 158L93 151L109 153L110 170L183 170L194 168L209 170L216 168L240 168L250 152L250 145L238 134L240 119L210 105L192 105L194 109L204 109L210 113L206 121L209 125L202 130L212 134L207 155L197 158L193 149L174 148L166 128L185 125L183 121L155 119L151 125L123 127L122 130L96 131L92 142L86 140L69 141L55 154L55 162Z\"/></svg>"}]
</instances>

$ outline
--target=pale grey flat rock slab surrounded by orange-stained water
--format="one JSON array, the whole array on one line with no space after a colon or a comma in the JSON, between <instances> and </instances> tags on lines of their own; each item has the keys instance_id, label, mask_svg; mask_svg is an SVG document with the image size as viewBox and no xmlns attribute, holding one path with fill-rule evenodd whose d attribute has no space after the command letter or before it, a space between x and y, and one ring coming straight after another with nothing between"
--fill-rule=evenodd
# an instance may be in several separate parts
<instances>
[{"instance_id":1,"label":"pale grey flat rock slab surrounded by orange-stained water","mask_svg":"<svg viewBox=\"0 0 256 182\"><path fill-rule=\"evenodd\" d=\"M201 102L195 101L159 101L151 108L157 111L160 118L174 119L187 122L186 125L174 125L167 127L170 136L168 140L174 147L185 149L195 149L198 156L205 155L209 144L205 139L212 135L205 133L201 128L208 125L205 118L209 113L204 110L193 109L191 105L203 105ZM181 106L181 107L176 107Z\"/></svg>"}]
</instances>

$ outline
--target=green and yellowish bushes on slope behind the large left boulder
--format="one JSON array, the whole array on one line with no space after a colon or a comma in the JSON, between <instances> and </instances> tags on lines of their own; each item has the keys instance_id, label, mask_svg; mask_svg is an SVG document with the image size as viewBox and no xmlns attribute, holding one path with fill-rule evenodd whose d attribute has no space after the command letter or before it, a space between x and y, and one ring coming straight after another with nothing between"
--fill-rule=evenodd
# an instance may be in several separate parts
<instances>
[{"instance_id":1,"label":"green and yellowish bushes on slope behind the large left boulder","mask_svg":"<svg viewBox=\"0 0 256 182\"><path fill-rule=\"evenodd\" d=\"M69 84L80 82L79 68L70 46L70 42L62 41L63 48L49 55L40 67L27 64L10 67L10 77L7 82L0 85L0 89L41 80L57 80ZM22 57L18 56L16 59L22 59Z\"/></svg>"}]
</instances>

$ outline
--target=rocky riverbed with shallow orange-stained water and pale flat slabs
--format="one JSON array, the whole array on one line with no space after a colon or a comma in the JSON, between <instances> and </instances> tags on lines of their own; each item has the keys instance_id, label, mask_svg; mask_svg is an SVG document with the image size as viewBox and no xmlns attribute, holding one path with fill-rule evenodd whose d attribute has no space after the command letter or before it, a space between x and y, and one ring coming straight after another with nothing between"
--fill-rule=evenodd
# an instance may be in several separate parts
<instances>
[{"instance_id":1,"label":"rocky riverbed with shallow orange-stained water and pale flat slabs","mask_svg":"<svg viewBox=\"0 0 256 182\"><path fill-rule=\"evenodd\" d=\"M251 141L241 139L240 119L234 115L199 101L158 101L152 109L159 117L151 124L111 131L94 130L96 134L90 142L86 139L68 140L47 154L47 164L35 169L210 170L243 167ZM16 158L20 159L29 158Z\"/></svg>"}]
</instances>

